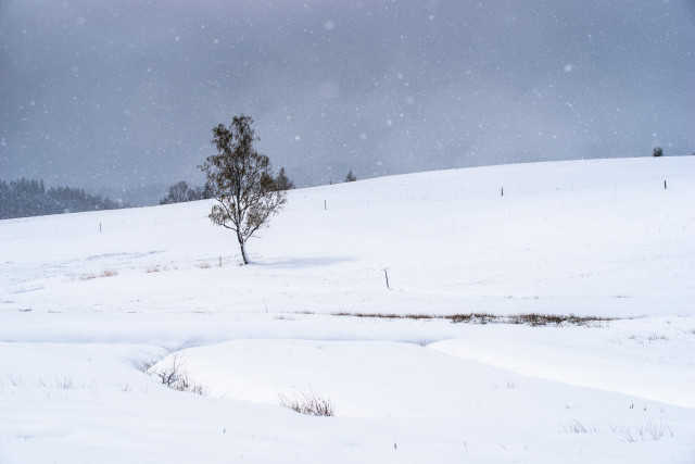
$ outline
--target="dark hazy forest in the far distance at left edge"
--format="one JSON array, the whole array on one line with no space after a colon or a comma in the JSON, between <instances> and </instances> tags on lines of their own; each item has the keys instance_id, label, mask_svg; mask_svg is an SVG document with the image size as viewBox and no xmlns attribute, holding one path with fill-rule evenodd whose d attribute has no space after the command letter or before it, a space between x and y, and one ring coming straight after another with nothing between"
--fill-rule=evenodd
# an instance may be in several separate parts
<instances>
[{"instance_id":1,"label":"dark hazy forest in the far distance at left edge","mask_svg":"<svg viewBox=\"0 0 695 464\"><path fill-rule=\"evenodd\" d=\"M0 220L118 208L123 205L108 198L86 193L83 189L70 187L47 189L43 180L25 178L12 180L9 184L0 180Z\"/></svg>"}]
</instances>

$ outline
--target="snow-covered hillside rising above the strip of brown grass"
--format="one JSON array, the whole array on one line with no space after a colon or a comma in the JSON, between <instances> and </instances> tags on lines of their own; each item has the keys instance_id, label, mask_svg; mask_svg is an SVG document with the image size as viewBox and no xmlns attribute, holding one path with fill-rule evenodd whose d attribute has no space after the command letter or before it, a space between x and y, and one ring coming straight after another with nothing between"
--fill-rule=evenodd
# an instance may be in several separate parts
<instances>
[{"instance_id":1,"label":"snow-covered hillside rising above the strip of brown grass","mask_svg":"<svg viewBox=\"0 0 695 464\"><path fill-rule=\"evenodd\" d=\"M691 314L694 177L692 158L629 159L295 190L243 268L204 201L4 221L2 308Z\"/></svg>"}]
</instances>

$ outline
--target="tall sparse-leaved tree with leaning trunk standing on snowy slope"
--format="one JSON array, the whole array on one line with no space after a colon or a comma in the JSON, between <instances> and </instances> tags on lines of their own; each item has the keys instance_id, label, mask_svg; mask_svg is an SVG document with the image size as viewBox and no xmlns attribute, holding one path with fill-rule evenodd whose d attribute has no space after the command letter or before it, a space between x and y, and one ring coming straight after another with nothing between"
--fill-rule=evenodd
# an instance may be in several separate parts
<instances>
[{"instance_id":1,"label":"tall sparse-leaved tree with leaning trunk standing on snowy slope","mask_svg":"<svg viewBox=\"0 0 695 464\"><path fill-rule=\"evenodd\" d=\"M252 124L253 118L242 114L235 116L229 127L215 127L212 143L217 154L198 166L207 176L212 198L218 202L210 218L237 233L244 264L249 264L247 240L287 202L287 193L276 189L270 160L253 148L260 139L254 137Z\"/></svg>"}]
</instances>

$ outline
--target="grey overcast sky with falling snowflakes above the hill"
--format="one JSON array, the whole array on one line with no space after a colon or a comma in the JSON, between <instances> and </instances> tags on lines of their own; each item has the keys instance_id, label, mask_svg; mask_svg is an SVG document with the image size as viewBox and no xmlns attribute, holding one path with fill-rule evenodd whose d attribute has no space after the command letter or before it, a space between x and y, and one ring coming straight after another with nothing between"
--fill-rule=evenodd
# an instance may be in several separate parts
<instances>
[{"instance_id":1,"label":"grey overcast sky with falling snowflakes above the hill","mask_svg":"<svg viewBox=\"0 0 695 464\"><path fill-rule=\"evenodd\" d=\"M300 186L695 151L695 1L0 0L0 178L202 184L255 118Z\"/></svg>"}]
</instances>

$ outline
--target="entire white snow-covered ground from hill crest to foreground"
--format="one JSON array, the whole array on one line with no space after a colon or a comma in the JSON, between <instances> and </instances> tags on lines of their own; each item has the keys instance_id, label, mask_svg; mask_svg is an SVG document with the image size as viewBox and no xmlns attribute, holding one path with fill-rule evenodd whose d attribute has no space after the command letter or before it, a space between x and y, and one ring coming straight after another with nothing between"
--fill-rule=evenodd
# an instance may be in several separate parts
<instances>
[{"instance_id":1,"label":"entire white snow-covered ground from hill crest to foreground","mask_svg":"<svg viewBox=\"0 0 695 464\"><path fill-rule=\"evenodd\" d=\"M208 211L0 222L0 463L695 462L695 156L294 190L249 266Z\"/></svg>"}]
</instances>

